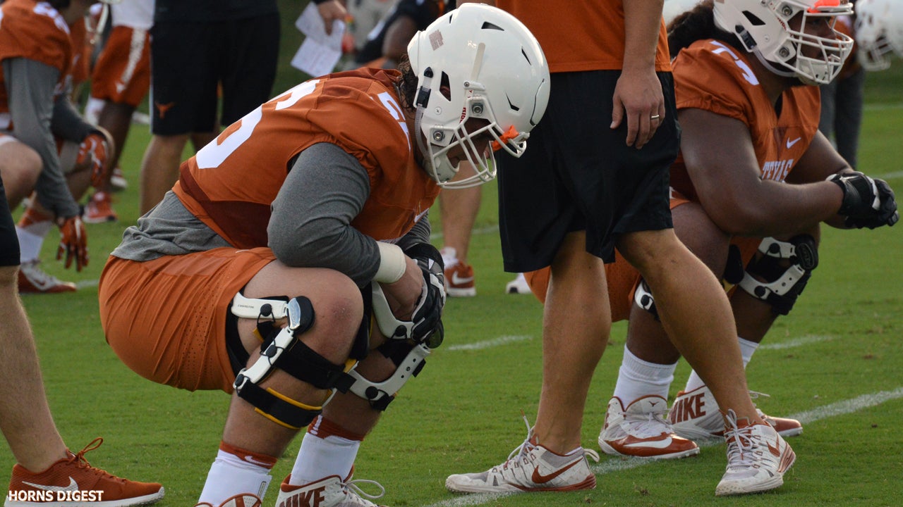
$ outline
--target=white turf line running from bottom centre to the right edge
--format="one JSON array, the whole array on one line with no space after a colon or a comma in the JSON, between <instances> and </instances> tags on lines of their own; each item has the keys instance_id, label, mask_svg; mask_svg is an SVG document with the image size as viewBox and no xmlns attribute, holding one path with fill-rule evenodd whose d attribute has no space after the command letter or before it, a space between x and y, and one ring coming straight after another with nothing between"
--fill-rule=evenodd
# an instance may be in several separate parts
<instances>
[{"instance_id":1,"label":"white turf line running from bottom centre to the right edge","mask_svg":"<svg viewBox=\"0 0 903 507\"><path fill-rule=\"evenodd\" d=\"M800 422L807 424L820 419L827 419L834 416L852 414L853 412L868 409L876 405L880 405L885 401L897 400L903 398L903 387L898 387L893 391L880 391L870 394L863 394L852 400L837 401L829 405L824 405L813 410L806 410L798 414L789 416L792 419L798 419ZM723 443L719 438L698 441L699 447L710 447ZM592 473L595 475L610 474L612 472L621 472L638 466L644 466L653 463L655 460L643 457L613 457L604 463L591 466ZM442 502L431 503L426 507L468 507L472 505L482 505L492 502L503 496L514 493L477 493L466 496L459 496Z\"/></svg>"}]
</instances>

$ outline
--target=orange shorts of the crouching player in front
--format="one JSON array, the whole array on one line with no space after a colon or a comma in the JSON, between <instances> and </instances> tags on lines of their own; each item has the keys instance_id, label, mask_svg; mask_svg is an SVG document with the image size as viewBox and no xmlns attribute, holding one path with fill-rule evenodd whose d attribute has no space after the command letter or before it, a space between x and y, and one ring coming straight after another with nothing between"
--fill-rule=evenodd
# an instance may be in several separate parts
<instances>
[{"instance_id":1,"label":"orange shorts of the crouching player in front","mask_svg":"<svg viewBox=\"0 0 903 507\"><path fill-rule=\"evenodd\" d=\"M274 260L269 248L217 248L146 263L111 256L98 287L107 343L135 373L156 383L232 392L228 305Z\"/></svg>"}]
</instances>

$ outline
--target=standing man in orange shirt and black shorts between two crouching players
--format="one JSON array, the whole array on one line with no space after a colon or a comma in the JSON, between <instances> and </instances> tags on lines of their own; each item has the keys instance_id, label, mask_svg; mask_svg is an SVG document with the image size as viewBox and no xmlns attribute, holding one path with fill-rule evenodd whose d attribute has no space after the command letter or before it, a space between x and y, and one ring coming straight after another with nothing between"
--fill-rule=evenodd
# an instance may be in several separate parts
<instances>
[{"instance_id":1,"label":"standing man in orange shirt and black shorts between two crouching players","mask_svg":"<svg viewBox=\"0 0 903 507\"><path fill-rule=\"evenodd\" d=\"M539 406L524 447L511 458L537 468L530 475L521 461L506 462L485 473L451 475L445 485L461 492L591 488L595 477L579 452L582 418L609 341L604 263L614 261L616 248L651 287L658 315L687 360L705 375L721 375L728 386L716 394L722 406L750 420L756 411L730 303L672 226L668 167L680 134L661 4L496 5L534 33L551 72L549 104L530 134L530 149L517 160L498 158L505 269L551 266ZM542 461L553 455L555 464ZM544 463L541 474L536 463Z\"/></svg>"}]
</instances>

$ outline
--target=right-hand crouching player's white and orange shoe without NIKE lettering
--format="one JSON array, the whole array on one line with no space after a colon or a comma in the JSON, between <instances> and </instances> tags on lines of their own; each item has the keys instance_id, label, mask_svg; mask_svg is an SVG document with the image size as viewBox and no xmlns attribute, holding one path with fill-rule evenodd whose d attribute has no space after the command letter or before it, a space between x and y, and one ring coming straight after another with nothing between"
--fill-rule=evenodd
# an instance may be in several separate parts
<instances>
[{"instance_id":1,"label":"right-hand crouching player's white and orange shoe without NIKE lettering","mask_svg":"<svg viewBox=\"0 0 903 507\"><path fill-rule=\"evenodd\" d=\"M693 440L675 435L665 419L668 401L661 396L644 396L627 409L617 396L609 400L599 447L614 456L673 459L699 454Z\"/></svg>"}]
</instances>

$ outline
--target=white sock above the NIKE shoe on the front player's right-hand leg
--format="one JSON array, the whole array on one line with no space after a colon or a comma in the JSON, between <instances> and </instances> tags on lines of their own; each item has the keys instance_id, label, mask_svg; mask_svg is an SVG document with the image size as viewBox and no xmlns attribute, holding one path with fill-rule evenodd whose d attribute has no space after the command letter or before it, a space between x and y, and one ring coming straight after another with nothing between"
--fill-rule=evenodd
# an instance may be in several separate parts
<instances>
[{"instance_id":1,"label":"white sock above the NIKE shoe on the front player's right-hand leg","mask_svg":"<svg viewBox=\"0 0 903 507\"><path fill-rule=\"evenodd\" d=\"M301 441L289 484L310 484L330 475L339 475L344 481L351 473L359 447L360 440L336 435L321 438L308 431Z\"/></svg>"}]
</instances>

